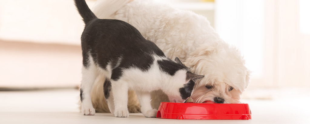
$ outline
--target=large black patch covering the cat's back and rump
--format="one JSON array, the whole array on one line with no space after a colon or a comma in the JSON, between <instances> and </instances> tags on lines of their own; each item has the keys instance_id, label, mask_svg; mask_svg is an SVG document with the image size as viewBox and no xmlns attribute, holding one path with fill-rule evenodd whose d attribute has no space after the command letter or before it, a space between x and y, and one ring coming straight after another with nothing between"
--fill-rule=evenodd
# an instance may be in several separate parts
<instances>
[{"instance_id":1,"label":"large black patch covering the cat's back and rump","mask_svg":"<svg viewBox=\"0 0 310 124\"><path fill-rule=\"evenodd\" d=\"M83 65L88 67L89 55L95 64L106 69L122 57L112 70L113 80L122 76L122 70L132 67L147 71L153 64L153 55L165 56L151 41L143 38L137 29L121 20L95 19L85 25L81 37ZM172 61L171 61L172 62Z\"/></svg>"}]
</instances>

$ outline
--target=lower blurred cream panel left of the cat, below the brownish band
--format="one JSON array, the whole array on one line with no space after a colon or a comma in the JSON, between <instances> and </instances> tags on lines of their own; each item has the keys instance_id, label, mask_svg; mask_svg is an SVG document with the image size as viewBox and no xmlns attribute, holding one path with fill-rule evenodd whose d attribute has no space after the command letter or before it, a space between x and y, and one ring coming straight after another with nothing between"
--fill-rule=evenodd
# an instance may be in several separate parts
<instances>
[{"instance_id":1,"label":"lower blurred cream panel left of the cat, below the brownish band","mask_svg":"<svg viewBox=\"0 0 310 124\"><path fill-rule=\"evenodd\" d=\"M0 88L77 87L80 46L0 40Z\"/></svg>"}]
</instances>

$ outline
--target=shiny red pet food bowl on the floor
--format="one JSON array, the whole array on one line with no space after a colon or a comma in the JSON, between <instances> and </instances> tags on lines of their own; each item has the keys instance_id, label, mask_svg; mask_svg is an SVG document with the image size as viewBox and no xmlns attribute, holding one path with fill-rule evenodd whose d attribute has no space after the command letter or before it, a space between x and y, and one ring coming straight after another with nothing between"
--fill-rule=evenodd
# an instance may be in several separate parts
<instances>
[{"instance_id":1,"label":"shiny red pet food bowl on the floor","mask_svg":"<svg viewBox=\"0 0 310 124\"><path fill-rule=\"evenodd\" d=\"M248 104L170 103L162 102L157 118L201 119L201 120L249 120L251 110Z\"/></svg>"}]
</instances>

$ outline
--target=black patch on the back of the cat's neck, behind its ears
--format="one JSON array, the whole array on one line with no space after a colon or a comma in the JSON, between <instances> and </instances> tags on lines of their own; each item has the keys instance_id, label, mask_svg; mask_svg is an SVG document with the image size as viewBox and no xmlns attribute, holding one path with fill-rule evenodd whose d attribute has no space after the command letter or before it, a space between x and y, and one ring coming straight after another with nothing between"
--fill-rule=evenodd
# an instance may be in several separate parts
<instances>
[{"instance_id":1,"label":"black patch on the back of the cat's neck, behind its ears","mask_svg":"<svg viewBox=\"0 0 310 124\"><path fill-rule=\"evenodd\" d=\"M171 60L158 60L157 63L163 72L168 73L171 76L173 76L178 70L187 69L183 64Z\"/></svg>"}]
</instances>

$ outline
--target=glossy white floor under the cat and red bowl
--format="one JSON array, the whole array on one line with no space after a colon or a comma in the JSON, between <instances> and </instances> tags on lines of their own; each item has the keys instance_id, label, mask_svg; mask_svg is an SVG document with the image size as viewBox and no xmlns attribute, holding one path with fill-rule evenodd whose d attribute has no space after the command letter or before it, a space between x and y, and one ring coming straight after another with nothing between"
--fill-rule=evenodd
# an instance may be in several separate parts
<instances>
[{"instance_id":1,"label":"glossy white floor under the cat and red bowl","mask_svg":"<svg viewBox=\"0 0 310 124\"><path fill-rule=\"evenodd\" d=\"M278 100L242 100L250 105L252 120L172 120L146 118L131 113L127 118L111 113L83 116L78 111L79 91L75 89L0 91L0 124L61 124L61 123L229 123L229 124L309 124L309 95Z\"/></svg>"}]
</instances>

